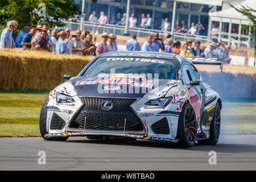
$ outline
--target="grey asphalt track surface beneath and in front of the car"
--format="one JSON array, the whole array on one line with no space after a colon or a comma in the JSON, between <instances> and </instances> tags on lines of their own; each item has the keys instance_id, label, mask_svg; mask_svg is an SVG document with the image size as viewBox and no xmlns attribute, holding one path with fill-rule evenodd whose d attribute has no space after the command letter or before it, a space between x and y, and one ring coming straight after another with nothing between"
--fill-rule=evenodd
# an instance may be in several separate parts
<instances>
[{"instance_id":1,"label":"grey asphalt track surface beneath and in front of the car","mask_svg":"<svg viewBox=\"0 0 256 182\"><path fill-rule=\"evenodd\" d=\"M181 149L164 142L104 142L71 137L0 138L0 170L255 170L256 135L221 135L216 146ZM39 151L46 164L39 165ZM217 164L209 164L216 151Z\"/></svg>"}]
</instances>

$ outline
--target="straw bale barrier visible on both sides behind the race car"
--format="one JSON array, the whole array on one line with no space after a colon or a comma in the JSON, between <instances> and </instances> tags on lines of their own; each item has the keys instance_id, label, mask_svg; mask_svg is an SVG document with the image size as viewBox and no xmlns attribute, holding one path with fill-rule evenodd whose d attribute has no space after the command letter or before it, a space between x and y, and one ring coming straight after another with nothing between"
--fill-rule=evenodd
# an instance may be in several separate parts
<instances>
[{"instance_id":1,"label":"straw bale barrier visible on both sides behind the race car","mask_svg":"<svg viewBox=\"0 0 256 182\"><path fill-rule=\"evenodd\" d=\"M0 49L0 88L53 89L77 76L93 56L55 55L48 52ZM204 80L221 97L256 98L256 68L246 65L196 65Z\"/></svg>"}]
</instances>

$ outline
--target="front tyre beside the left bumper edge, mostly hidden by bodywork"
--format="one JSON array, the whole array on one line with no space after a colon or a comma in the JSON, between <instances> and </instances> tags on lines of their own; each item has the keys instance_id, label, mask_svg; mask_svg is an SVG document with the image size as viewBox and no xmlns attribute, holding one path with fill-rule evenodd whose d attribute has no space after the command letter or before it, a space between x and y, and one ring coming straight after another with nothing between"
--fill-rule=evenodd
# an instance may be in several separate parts
<instances>
[{"instance_id":1,"label":"front tyre beside the left bumper edge, mostly hidden by bodywork","mask_svg":"<svg viewBox=\"0 0 256 182\"><path fill-rule=\"evenodd\" d=\"M46 130L48 102L49 102L49 99L47 98L47 100L44 101L44 104L43 104L41 112L40 112L40 118L39 118L40 134L41 134L42 138L45 140L66 141L68 139L68 137L44 137L44 135L48 134L47 130Z\"/></svg>"}]
</instances>

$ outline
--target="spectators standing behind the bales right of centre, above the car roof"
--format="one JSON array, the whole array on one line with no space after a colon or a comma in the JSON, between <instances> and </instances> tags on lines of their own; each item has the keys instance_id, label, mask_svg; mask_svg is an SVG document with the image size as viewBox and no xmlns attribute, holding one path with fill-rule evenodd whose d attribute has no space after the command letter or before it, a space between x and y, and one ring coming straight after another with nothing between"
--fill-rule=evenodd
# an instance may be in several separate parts
<instances>
[{"instance_id":1,"label":"spectators standing behind the bales right of centre, above the car roof","mask_svg":"<svg viewBox=\"0 0 256 182\"><path fill-rule=\"evenodd\" d=\"M136 35L133 34L132 38L127 40L126 49L127 51L175 53L185 57L218 58L224 60L224 64L231 61L231 57L229 57L231 47L219 43L217 39L210 39L207 47L201 46L199 40L193 44L192 39L187 39L187 42L181 46L181 42L174 42L171 35L166 35L163 39L159 38L158 32L155 32L154 35L148 35L142 47L140 47Z\"/></svg>"}]
</instances>

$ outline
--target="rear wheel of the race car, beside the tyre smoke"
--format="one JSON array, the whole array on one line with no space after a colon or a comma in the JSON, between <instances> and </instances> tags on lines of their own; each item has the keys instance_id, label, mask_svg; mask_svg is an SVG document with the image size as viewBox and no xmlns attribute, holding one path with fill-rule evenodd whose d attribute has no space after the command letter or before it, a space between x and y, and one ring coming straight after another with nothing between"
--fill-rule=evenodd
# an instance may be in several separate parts
<instances>
[{"instance_id":1,"label":"rear wheel of the race car, beside the tyre smoke","mask_svg":"<svg viewBox=\"0 0 256 182\"><path fill-rule=\"evenodd\" d=\"M210 138L206 140L197 141L199 144L216 145L218 138L220 138L220 125L221 125L221 113L220 104L217 102L214 109L213 121L210 123Z\"/></svg>"}]
</instances>

